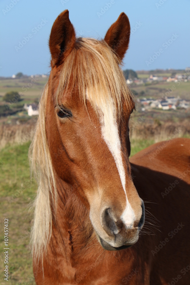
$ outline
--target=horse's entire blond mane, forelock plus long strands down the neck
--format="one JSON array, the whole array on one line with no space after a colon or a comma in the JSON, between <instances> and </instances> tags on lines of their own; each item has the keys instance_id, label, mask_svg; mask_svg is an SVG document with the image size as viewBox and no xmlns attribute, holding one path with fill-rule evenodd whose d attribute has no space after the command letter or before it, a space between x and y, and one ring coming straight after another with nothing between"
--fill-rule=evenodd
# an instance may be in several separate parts
<instances>
[{"instance_id":1,"label":"horse's entire blond mane, forelock plus long strands down the neck","mask_svg":"<svg viewBox=\"0 0 190 285\"><path fill-rule=\"evenodd\" d=\"M124 101L128 105L133 100L119 66L119 60L105 41L91 38L77 39L75 48L62 64L56 95L57 104L68 88L76 90L75 87L84 104L88 90L88 99L95 111L98 106L108 104L112 100L120 112ZM34 258L43 257L52 233L52 215L56 215L56 174L52 166L45 129L47 95L48 83L41 95L38 122L29 149L31 170L38 182L31 233Z\"/></svg>"}]
</instances>

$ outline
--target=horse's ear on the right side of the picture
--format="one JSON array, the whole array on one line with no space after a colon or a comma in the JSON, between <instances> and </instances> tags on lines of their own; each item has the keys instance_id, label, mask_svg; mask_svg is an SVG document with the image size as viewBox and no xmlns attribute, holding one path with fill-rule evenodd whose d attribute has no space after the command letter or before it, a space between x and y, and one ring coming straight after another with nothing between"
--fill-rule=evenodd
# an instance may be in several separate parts
<instances>
[{"instance_id":1,"label":"horse's ear on the right side of the picture","mask_svg":"<svg viewBox=\"0 0 190 285\"><path fill-rule=\"evenodd\" d=\"M127 15L123 12L115 23L107 31L104 40L115 51L120 60L123 59L128 49L130 38L130 23Z\"/></svg>"}]
</instances>

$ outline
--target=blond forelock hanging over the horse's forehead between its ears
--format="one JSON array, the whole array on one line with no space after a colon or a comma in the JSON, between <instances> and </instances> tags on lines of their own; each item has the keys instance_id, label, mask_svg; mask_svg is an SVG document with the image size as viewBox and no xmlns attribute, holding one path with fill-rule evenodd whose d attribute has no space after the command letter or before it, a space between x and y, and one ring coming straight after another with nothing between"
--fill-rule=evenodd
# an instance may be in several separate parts
<instances>
[{"instance_id":1,"label":"blond forelock hanging over the horse's forehead between its ears","mask_svg":"<svg viewBox=\"0 0 190 285\"><path fill-rule=\"evenodd\" d=\"M78 38L75 48L67 56L60 73L57 89L57 104L62 95L70 89L79 92L81 100L88 99L97 111L112 98L120 112L123 101L128 105L134 99L127 87L120 61L105 41L92 38Z\"/></svg>"}]
</instances>

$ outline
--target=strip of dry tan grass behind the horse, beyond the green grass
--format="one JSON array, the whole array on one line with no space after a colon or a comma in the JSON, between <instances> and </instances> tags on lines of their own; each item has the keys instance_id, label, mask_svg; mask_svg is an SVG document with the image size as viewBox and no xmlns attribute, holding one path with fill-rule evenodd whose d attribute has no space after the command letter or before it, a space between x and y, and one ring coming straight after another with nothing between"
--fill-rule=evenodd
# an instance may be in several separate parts
<instances>
[{"instance_id":1,"label":"strip of dry tan grass behind the horse, beyond the green grass","mask_svg":"<svg viewBox=\"0 0 190 285\"><path fill-rule=\"evenodd\" d=\"M36 119L31 119L20 125L0 125L0 149L7 144L20 144L31 141L34 135ZM189 119L181 122L145 123L143 121L129 121L130 139L132 142L151 141L157 143L159 141L167 141L176 137L190 137Z\"/></svg>"}]
</instances>

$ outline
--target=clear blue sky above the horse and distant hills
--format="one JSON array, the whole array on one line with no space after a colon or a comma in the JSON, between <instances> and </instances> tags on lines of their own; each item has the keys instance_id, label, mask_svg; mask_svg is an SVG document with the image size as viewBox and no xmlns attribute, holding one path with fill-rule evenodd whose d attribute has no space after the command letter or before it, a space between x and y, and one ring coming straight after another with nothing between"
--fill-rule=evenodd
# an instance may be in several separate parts
<instances>
[{"instance_id":1,"label":"clear blue sky above the horse and distant hills","mask_svg":"<svg viewBox=\"0 0 190 285\"><path fill-rule=\"evenodd\" d=\"M189 0L1 0L0 76L50 71L48 38L65 9L77 35L93 38L103 38L121 12L128 15L132 34L123 69L190 66Z\"/></svg>"}]
</instances>

